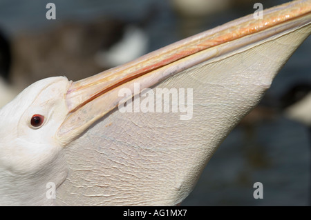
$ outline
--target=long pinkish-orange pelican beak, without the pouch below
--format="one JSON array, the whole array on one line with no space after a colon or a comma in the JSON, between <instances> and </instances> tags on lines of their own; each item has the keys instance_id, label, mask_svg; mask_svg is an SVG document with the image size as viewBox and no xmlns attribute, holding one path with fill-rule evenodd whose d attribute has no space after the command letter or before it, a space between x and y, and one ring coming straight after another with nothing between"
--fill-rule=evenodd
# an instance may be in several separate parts
<instances>
[{"instance_id":1,"label":"long pinkish-orange pelican beak, without the pouch below","mask_svg":"<svg viewBox=\"0 0 311 220\"><path fill-rule=\"evenodd\" d=\"M311 22L310 1L293 1L263 11L262 19L250 14L223 26L196 34L151 52L139 59L71 83L66 94L68 114L58 136L70 141L124 99L122 88L132 91L127 99L199 63L234 52L269 37L289 32ZM134 90L140 83L140 90Z\"/></svg>"}]
</instances>

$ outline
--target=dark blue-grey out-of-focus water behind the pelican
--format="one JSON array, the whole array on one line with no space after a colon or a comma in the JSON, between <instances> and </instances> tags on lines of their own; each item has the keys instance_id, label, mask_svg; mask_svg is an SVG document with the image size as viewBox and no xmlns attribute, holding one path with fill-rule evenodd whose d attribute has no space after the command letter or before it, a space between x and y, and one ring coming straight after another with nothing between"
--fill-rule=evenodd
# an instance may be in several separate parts
<instances>
[{"instance_id":1,"label":"dark blue-grey out-of-focus water behind the pelican","mask_svg":"<svg viewBox=\"0 0 311 220\"><path fill-rule=\"evenodd\" d=\"M48 2L1 0L0 27L9 37L17 37L21 32L44 32L68 20L91 21L105 16L139 21L149 8L154 7L158 14L145 30L150 37L149 51L186 37L181 34L180 17L169 1L54 0L55 21L46 19ZM286 1L273 1L273 4L283 2ZM266 5L263 4L264 8ZM252 6L229 8L208 17L198 31L252 12ZM269 93L277 97L297 82L311 82L310 61L309 37L285 64ZM257 181L263 183L263 199L253 197L253 184ZM279 114L273 120L261 121L251 128L235 128L211 158L196 188L182 205L308 206L310 188L308 129Z\"/></svg>"}]
</instances>

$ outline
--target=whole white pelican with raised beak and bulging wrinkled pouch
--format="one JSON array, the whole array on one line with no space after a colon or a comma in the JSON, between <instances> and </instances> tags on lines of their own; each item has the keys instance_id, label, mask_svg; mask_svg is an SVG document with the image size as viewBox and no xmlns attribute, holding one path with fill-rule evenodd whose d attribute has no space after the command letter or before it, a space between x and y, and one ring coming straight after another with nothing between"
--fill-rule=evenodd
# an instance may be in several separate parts
<instances>
[{"instance_id":1,"label":"whole white pelican with raised beak and bulging wrinkled pouch","mask_svg":"<svg viewBox=\"0 0 311 220\"><path fill-rule=\"evenodd\" d=\"M0 110L0 204L181 203L310 32L311 1L292 1L93 77L33 83Z\"/></svg>"}]
</instances>

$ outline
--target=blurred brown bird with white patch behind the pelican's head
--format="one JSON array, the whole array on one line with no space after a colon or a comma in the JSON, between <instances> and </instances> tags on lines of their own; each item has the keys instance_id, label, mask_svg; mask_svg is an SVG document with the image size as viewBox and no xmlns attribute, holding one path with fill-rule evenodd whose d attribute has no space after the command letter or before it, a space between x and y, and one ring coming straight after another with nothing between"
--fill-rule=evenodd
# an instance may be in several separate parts
<instances>
[{"instance_id":1,"label":"blurred brown bird with white patch behind the pelican's head","mask_svg":"<svg viewBox=\"0 0 311 220\"><path fill-rule=\"evenodd\" d=\"M3 103L34 81L55 73L78 80L146 54L146 29L157 15L158 8L151 5L138 19L66 19L46 29L19 32L10 42L1 34L1 75L6 83L0 89L16 90L1 92Z\"/></svg>"}]
</instances>

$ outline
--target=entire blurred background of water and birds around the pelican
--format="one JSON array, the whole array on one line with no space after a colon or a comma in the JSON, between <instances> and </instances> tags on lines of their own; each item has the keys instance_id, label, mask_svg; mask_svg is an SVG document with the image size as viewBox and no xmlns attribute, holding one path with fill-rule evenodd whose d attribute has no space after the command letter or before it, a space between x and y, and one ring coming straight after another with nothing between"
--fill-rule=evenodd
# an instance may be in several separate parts
<instances>
[{"instance_id":1,"label":"entire blurred background of water and birds around the pelican","mask_svg":"<svg viewBox=\"0 0 311 220\"><path fill-rule=\"evenodd\" d=\"M0 107L34 81L76 81L287 1L0 0ZM272 58L273 59L273 58ZM311 88L311 37L225 139L182 206L310 206L310 124L284 114ZM309 105L310 106L310 105ZM310 118L311 112L307 112ZM253 184L263 183L263 199Z\"/></svg>"}]
</instances>

